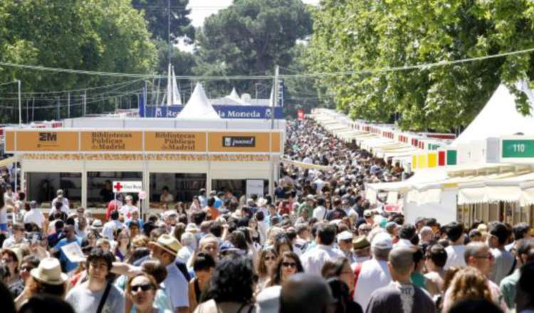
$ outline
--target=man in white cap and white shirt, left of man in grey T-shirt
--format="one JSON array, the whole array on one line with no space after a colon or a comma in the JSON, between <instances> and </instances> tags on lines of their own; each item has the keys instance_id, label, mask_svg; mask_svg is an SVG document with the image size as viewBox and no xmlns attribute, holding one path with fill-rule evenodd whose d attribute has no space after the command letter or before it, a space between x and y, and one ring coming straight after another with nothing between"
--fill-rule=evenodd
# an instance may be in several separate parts
<instances>
[{"instance_id":1,"label":"man in white cap and white shirt, left of man in grey T-shirt","mask_svg":"<svg viewBox=\"0 0 534 313\"><path fill-rule=\"evenodd\" d=\"M354 290L354 301L360 304L364 311L369 304L372 292L389 285L391 282L387 258L392 248L392 238L388 233L377 233L372 238L371 253L373 258L362 263Z\"/></svg>"}]
</instances>

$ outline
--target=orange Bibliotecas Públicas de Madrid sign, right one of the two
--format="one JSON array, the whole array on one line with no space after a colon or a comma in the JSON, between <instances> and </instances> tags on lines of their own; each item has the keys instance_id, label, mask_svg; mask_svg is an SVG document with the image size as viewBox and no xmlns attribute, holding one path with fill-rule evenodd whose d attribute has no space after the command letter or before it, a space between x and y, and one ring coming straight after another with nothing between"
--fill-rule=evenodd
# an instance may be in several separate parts
<instances>
[{"instance_id":1,"label":"orange Bibliotecas P\u00fablicas de Madrid sign, right one of the two","mask_svg":"<svg viewBox=\"0 0 534 313\"><path fill-rule=\"evenodd\" d=\"M147 152L206 152L205 132L145 132Z\"/></svg>"}]
</instances>

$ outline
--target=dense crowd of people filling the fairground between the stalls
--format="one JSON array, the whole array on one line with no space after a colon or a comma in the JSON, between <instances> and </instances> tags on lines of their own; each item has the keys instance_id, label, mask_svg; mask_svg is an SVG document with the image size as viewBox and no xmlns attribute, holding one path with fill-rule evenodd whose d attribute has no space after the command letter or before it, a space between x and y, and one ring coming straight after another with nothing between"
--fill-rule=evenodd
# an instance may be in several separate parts
<instances>
[{"instance_id":1,"label":"dense crowd of people filling the fairground between the stalls","mask_svg":"<svg viewBox=\"0 0 534 313\"><path fill-rule=\"evenodd\" d=\"M533 312L530 226L407 223L365 198L400 166L309 119L286 138L298 163L273 195L201 189L145 218L131 196L100 220L61 190L45 216L4 181L2 312Z\"/></svg>"}]
</instances>

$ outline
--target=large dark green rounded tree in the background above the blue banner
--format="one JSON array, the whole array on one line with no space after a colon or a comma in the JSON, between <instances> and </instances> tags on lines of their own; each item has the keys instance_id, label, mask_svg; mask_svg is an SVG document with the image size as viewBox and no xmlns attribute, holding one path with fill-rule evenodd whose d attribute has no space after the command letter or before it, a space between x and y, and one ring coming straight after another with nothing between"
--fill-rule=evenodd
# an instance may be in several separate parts
<instances>
[{"instance_id":1,"label":"large dark green rounded tree in the background above the blue banner","mask_svg":"<svg viewBox=\"0 0 534 313\"><path fill-rule=\"evenodd\" d=\"M236 0L209 16L197 31L197 75L266 75L275 65L288 67L292 48L312 27L300 0ZM231 87L253 93L254 81L209 83L208 92ZM270 83L270 82L269 82Z\"/></svg>"}]
</instances>

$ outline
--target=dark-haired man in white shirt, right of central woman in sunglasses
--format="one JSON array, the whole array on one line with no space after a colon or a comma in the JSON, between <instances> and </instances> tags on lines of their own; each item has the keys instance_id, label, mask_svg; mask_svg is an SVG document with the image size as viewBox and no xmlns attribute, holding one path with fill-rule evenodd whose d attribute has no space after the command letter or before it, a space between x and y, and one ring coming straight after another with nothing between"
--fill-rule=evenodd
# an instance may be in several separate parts
<instances>
[{"instance_id":1,"label":"dark-haired man in white shirt, right of central woman in sunglasses","mask_svg":"<svg viewBox=\"0 0 534 313\"><path fill-rule=\"evenodd\" d=\"M330 224L318 226L317 238L315 239L317 245L300 257L305 272L321 275L321 269L326 261L345 257L341 250L333 247L335 235L335 226Z\"/></svg>"}]
</instances>

